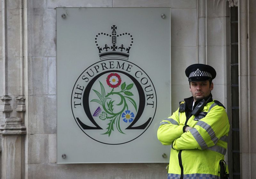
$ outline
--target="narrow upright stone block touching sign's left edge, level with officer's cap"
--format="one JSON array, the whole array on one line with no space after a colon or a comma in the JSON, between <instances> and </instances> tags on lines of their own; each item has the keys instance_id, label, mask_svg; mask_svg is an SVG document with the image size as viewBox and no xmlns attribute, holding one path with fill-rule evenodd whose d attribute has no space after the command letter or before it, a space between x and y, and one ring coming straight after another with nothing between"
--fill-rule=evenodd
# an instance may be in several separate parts
<instances>
[{"instance_id":1,"label":"narrow upright stone block touching sign's left edge, level with officer's cap","mask_svg":"<svg viewBox=\"0 0 256 179\"><path fill-rule=\"evenodd\" d=\"M56 58L48 58L48 94L56 95Z\"/></svg>"}]
</instances>

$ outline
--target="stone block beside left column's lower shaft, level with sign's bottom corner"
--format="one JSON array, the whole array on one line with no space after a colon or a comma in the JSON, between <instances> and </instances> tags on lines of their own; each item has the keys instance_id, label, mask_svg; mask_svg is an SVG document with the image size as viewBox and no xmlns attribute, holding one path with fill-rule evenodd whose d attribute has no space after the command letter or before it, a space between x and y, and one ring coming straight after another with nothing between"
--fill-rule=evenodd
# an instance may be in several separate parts
<instances>
[{"instance_id":1,"label":"stone block beside left column's lower shaft, level with sign's bottom corner","mask_svg":"<svg viewBox=\"0 0 256 179\"><path fill-rule=\"evenodd\" d=\"M48 162L48 135L28 135L28 163L30 164ZM44 173L48 173L45 171Z\"/></svg>"}]
</instances>

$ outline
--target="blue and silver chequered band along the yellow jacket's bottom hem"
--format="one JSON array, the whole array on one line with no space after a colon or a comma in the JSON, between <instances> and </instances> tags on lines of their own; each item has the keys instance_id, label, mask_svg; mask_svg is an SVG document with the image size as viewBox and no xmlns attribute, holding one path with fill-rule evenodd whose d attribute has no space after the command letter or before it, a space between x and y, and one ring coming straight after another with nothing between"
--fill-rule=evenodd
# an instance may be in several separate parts
<instances>
[{"instance_id":1,"label":"blue and silver chequered band along the yellow jacket's bottom hem","mask_svg":"<svg viewBox=\"0 0 256 179\"><path fill-rule=\"evenodd\" d=\"M202 173L193 173L193 174L184 174L183 179L220 179L217 175L212 174L202 174ZM168 173L167 179L180 179L180 174Z\"/></svg>"}]
</instances>

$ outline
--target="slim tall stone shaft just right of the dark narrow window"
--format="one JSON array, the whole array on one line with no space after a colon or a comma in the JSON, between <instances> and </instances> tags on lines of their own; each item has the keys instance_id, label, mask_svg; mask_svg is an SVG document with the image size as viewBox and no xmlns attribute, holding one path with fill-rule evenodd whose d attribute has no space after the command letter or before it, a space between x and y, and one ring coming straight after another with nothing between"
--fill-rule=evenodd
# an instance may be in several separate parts
<instances>
[{"instance_id":1,"label":"slim tall stone shaft just right of the dark narrow window","mask_svg":"<svg viewBox=\"0 0 256 179\"><path fill-rule=\"evenodd\" d=\"M238 51L239 51L239 133L241 178L251 178L250 165L250 92L248 67L248 1L238 4ZM253 177L252 177L253 178Z\"/></svg>"}]
</instances>

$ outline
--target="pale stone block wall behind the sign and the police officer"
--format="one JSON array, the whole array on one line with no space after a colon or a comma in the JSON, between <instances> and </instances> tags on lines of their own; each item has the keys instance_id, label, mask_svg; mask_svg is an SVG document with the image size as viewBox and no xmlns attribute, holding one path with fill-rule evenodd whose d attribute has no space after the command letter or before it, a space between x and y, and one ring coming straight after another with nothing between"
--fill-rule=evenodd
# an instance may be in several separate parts
<instances>
[{"instance_id":1,"label":"pale stone block wall behind the sign and the police officer","mask_svg":"<svg viewBox=\"0 0 256 179\"><path fill-rule=\"evenodd\" d=\"M0 56L0 63L5 65L0 67L0 73L4 74L0 78L0 83L4 84L0 88L0 95L4 97L1 98L4 109L1 108L3 113L0 119L1 124L6 124L6 118L20 118L16 120L16 125L19 125L20 133L23 134L22 124L26 126L25 137L20 137L20 143L16 144L20 148L21 169L12 176L8 172L2 173L2 178L166 178L165 163L56 163L55 7L171 7L171 87L174 111L179 101L190 96L188 81L183 72L188 65L197 62L212 65L216 69L218 74L213 81L213 96L229 106L227 1L2 0L0 23L3 28L0 29L0 41L3 43L0 49L8 55L2 53ZM22 97L25 97L26 112L8 111L8 107L16 109L18 104L24 107ZM19 132L15 135L20 136ZM6 139L4 135L3 139ZM3 151L5 149L3 147ZM13 161L8 161L8 156L2 152L2 164L13 165ZM2 165L2 171L3 168Z\"/></svg>"}]
</instances>

